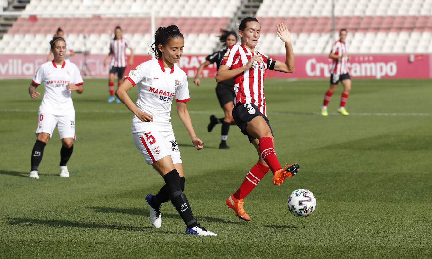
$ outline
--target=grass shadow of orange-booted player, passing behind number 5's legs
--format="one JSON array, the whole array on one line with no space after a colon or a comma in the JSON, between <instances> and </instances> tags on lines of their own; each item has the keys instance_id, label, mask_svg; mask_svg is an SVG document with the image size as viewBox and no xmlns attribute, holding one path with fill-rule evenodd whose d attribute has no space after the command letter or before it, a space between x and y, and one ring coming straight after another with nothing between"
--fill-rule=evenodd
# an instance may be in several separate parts
<instances>
[{"instance_id":1,"label":"grass shadow of orange-booted player, passing behind number 5's legs","mask_svg":"<svg viewBox=\"0 0 432 259\"><path fill-rule=\"evenodd\" d=\"M169 204L171 205L171 203ZM108 208L108 207L89 207L90 209L95 210L98 213L124 213L124 214L130 214L135 216L144 216L149 217L149 210L143 209L143 208ZM163 210L161 211L162 218L177 218L181 219L179 214L174 213L164 213ZM222 218L217 217L207 217L207 216L197 216L194 215L195 219L198 221L207 221L207 222L218 222L218 223L225 223L225 224L244 224L244 221L227 221Z\"/></svg>"}]
</instances>

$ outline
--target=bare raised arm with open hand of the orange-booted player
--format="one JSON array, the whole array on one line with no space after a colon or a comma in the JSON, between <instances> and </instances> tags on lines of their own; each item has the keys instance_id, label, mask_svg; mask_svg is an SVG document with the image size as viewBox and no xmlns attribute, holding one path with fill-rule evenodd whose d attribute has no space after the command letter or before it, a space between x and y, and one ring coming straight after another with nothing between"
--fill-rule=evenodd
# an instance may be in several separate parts
<instances>
[{"instance_id":1,"label":"bare raised arm with open hand of the orange-booted player","mask_svg":"<svg viewBox=\"0 0 432 259\"><path fill-rule=\"evenodd\" d=\"M291 33L289 33L288 27L284 25L283 22L280 22L276 26L276 29L276 34L281 40L283 40L283 42L285 42L286 59L285 63L276 61L274 70L284 73L292 73L294 72L294 51L292 51Z\"/></svg>"}]
</instances>

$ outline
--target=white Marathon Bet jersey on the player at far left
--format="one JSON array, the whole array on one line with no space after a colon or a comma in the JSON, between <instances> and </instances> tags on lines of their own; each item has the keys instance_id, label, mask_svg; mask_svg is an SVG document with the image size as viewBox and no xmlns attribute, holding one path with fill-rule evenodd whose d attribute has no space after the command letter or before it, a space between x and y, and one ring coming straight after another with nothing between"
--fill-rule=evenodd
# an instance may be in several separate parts
<instances>
[{"instance_id":1,"label":"white Marathon Bet jersey on the player at far left","mask_svg":"<svg viewBox=\"0 0 432 259\"><path fill-rule=\"evenodd\" d=\"M83 77L79 73L78 67L71 62L63 61L62 65L57 66L54 61L41 64L33 83L40 85L44 83L45 93L39 106L39 114L51 113L59 116L75 116L71 91L66 89L69 83L82 85Z\"/></svg>"}]
</instances>

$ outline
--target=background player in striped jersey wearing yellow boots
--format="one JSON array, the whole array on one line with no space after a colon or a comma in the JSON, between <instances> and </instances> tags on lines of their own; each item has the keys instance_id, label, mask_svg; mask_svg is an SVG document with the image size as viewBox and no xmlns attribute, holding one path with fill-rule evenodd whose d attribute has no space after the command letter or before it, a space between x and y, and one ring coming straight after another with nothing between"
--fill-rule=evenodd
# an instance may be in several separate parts
<instances>
[{"instance_id":1,"label":"background player in striped jersey wearing yellow boots","mask_svg":"<svg viewBox=\"0 0 432 259\"><path fill-rule=\"evenodd\" d=\"M327 104L330 101L334 91L336 91L337 84L342 82L343 93L340 97L340 106L337 111L342 115L349 115L345 109L346 99L348 99L349 90L351 90L351 77L348 74L347 63L351 59L348 56L348 44L345 42L347 31L341 29L339 32L340 39L334 43L330 51L329 58L333 58L333 64L330 68L330 89L325 93L324 103L321 107L321 115L327 116Z\"/></svg>"}]
</instances>

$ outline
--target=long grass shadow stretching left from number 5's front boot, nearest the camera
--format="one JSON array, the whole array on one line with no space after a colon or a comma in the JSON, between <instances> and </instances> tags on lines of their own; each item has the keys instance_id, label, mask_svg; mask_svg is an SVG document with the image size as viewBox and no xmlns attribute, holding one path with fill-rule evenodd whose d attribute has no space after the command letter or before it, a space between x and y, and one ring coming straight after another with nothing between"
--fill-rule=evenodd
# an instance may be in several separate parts
<instances>
[{"instance_id":1,"label":"long grass shadow stretching left from number 5's front boot, nearest the camera","mask_svg":"<svg viewBox=\"0 0 432 259\"><path fill-rule=\"evenodd\" d=\"M112 229L112 230L130 230L130 231L143 231L147 229L153 229L154 227L137 227L130 225L109 225L95 222L85 221L67 221L67 220L42 220L38 218L6 218L10 225L39 225L44 227L82 227L82 228L100 228L100 229ZM173 231L159 231L163 233L177 233Z\"/></svg>"}]
</instances>

